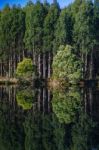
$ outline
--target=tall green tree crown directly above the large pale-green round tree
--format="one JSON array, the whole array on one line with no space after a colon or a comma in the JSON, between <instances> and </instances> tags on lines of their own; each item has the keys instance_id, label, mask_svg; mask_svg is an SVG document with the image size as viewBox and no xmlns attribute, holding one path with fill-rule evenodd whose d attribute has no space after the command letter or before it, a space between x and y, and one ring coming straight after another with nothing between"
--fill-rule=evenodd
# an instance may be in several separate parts
<instances>
[{"instance_id":1,"label":"tall green tree crown directly above the large pale-green round tree","mask_svg":"<svg viewBox=\"0 0 99 150\"><path fill-rule=\"evenodd\" d=\"M61 11L55 30L54 53L60 45L71 44L73 37L73 19L71 10L65 8Z\"/></svg>"}]
</instances>

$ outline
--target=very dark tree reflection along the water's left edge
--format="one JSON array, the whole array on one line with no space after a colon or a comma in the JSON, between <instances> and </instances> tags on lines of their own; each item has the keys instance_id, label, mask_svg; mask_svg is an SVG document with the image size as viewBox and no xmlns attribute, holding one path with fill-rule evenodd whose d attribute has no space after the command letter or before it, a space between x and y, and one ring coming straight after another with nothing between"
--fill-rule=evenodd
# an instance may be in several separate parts
<instances>
[{"instance_id":1,"label":"very dark tree reflection along the water's left edge","mask_svg":"<svg viewBox=\"0 0 99 150\"><path fill-rule=\"evenodd\" d=\"M18 108L13 107L15 104L9 101L8 93L5 92L5 95L0 100L0 150L23 150L23 120L20 119L22 114Z\"/></svg>"}]
</instances>

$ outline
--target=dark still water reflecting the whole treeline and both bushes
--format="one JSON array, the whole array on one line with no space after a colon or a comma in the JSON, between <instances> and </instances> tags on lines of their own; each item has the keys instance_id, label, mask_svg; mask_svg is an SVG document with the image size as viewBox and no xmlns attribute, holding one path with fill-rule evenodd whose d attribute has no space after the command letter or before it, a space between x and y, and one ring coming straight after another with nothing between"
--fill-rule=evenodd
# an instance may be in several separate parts
<instances>
[{"instance_id":1,"label":"dark still water reflecting the whole treeline and both bushes","mask_svg":"<svg viewBox=\"0 0 99 150\"><path fill-rule=\"evenodd\" d=\"M99 150L99 90L1 86L0 150Z\"/></svg>"}]
</instances>

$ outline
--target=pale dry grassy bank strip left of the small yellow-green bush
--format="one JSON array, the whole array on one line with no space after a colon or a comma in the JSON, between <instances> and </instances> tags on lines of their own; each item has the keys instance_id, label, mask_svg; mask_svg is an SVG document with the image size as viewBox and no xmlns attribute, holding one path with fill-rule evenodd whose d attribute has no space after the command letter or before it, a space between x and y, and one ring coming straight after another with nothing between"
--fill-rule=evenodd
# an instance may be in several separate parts
<instances>
[{"instance_id":1,"label":"pale dry grassy bank strip left of the small yellow-green bush","mask_svg":"<svg viewBox=\"0 0 99 150\"><path fill-rule=\"evenodd\" d=\"M16 78L7 78L7 77L0 77L0 84L17 84L18 79Z\"/></svg>"}]
</instances>

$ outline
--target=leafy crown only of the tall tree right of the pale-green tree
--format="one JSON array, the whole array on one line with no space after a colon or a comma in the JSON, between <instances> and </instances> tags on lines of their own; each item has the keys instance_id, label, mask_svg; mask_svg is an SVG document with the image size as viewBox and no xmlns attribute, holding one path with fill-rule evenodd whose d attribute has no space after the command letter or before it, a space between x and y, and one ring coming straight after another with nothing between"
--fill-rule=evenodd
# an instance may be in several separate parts
<instances>
[{"instance_id":1,"label":"leafy crown only of the tall tree right of the pale-green tree","mask_svg":"<svg viewBox=\"0 0 99 150\"><path fill-rule=\"evenodd\" d=\"M83 1L75 15L74 41L77 50L89 53L95 44L94 7L92 1Z\"/></svg>"}]
</instances>

